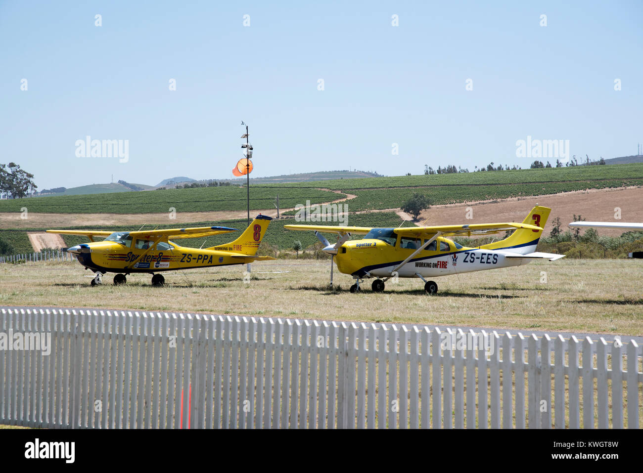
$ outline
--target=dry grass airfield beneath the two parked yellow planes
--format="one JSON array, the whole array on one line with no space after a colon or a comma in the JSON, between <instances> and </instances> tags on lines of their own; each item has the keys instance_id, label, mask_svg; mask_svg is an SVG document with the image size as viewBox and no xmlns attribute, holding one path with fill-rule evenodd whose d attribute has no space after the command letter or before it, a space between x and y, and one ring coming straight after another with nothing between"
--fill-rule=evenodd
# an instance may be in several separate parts
<instances>
[{"instance_id":1,"label":"dry grass airfield beneath the two parked yellow planes","mask_svg":"<svg viewBox=\"0 0 643 473\"><path fill-rule=\"evenodd\" d=\"M643 335L643 264L638 260L534 262L514 268L435 278L429 296L419 279L388 281L383 293L350 294L354 280L329 260L275 260L165 272L164 287L149 274L114 274L91 287L93 274L77 262L0 265L0 305L95 307L201 312L336 321L466 325L516 330L559 330ZM541 272L546 272L547 282Z\"/></svg>"}]
</instances>

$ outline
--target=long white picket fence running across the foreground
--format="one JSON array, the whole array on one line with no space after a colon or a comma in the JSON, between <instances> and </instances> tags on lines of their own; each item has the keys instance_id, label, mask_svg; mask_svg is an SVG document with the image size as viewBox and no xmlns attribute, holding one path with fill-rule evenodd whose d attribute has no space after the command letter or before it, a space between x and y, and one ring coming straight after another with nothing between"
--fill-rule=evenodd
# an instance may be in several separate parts
<instances>
[{"instance_id":1,"label":"long white picket fence running across the foreground","mask_svg":"<svg viewBox=\"0 0 643 473\"><path fill-rule=\"evenodd\" d=\"M9 330L51 352L0 350L0 424L638 428L643 405L633 340L493 332L487 356L427 326L2 308Z\"/></svg>"}]
</instances>

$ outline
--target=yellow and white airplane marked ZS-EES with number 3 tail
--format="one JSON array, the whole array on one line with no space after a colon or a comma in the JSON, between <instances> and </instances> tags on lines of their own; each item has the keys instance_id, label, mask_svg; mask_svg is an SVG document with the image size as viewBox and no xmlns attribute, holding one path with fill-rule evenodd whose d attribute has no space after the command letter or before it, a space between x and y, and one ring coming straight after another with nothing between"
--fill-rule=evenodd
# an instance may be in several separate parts
<instances>
[{"instance_id":1,"label":"yellow and white airplane marked ZS-EES with number 3 tail","mask_svg":"<svg viewBox=\"0 0 643 473\"><path fill-rule=\"evenodd\" d=\"M420 278L424 290L435 294L438 286L426 278L462 274L464 272L519 266L535 259L550 261L563 258L564 254L535 253L550 208L536 205L521 224L466 224L411 228L332 227L312 225L285 225L289 230L314 231L325 245L323 251L336 258L337 268L351 274L356 283L350 292L360 290L365 278L376 278L372 283L375 292L384 290L390 278ZM448 238L458 235L491 235L514 230L504 240L480 247L464 247ZM338 242L330 244L319 232L338 234ZM350 235L365 235L362 240L350 240Z\"/></svg>"}]
</instances>

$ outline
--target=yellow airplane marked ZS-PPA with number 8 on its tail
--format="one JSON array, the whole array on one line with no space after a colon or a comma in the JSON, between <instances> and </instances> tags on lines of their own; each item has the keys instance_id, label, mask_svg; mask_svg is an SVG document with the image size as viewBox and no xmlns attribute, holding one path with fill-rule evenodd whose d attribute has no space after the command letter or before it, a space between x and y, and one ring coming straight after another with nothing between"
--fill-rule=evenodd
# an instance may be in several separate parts
<instances>
[{"instance_id":1,"label":"yellow airplane marked ZS-PPA with number 8 on its tail","mask_svg":"<svg viewBox=\"0 0 643 473\"><path fill-rule=\"evenodd\" d=\"M143 231L84 231L84 230L47 230L62 235L81 235L89 238L83 243L69 248L78 262L96 272L91 285L102 283L102 274L116 272L114 284L125 284L129 274L147 272L152 274L152 285L165 283L163 271L194 269L211 266L245 264L253 261L274 260L270 256L255 256L268 224L272 220L266 215L257 215L246 231L236 240L209 248L182 247L170 238L199 238L237 231L227 227L175 228L168 230ZM105 237L95 242L95 237Z\"/></svg>"}]
</instances>

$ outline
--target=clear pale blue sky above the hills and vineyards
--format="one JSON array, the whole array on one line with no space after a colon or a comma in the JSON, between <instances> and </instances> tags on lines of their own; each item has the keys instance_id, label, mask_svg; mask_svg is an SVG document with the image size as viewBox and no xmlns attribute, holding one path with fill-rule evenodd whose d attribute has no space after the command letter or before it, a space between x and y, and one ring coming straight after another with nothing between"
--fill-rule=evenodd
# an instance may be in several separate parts
<instances>
[{"instance_id":1,"label":"clear pale blue sky above the hills and vineyards","mask_svg":"<svg viewBox=\"0 0 643 473\"><path fill-rule=\"evenodd\" d=\"M231 177L242 120L253 177L524 168L527 136L592 159L643 143L640 1L10 1L0 44L0 163L40 189ZM87 135L128 139L129 161L77 157Z\"/></svg>"}]
</instances>

